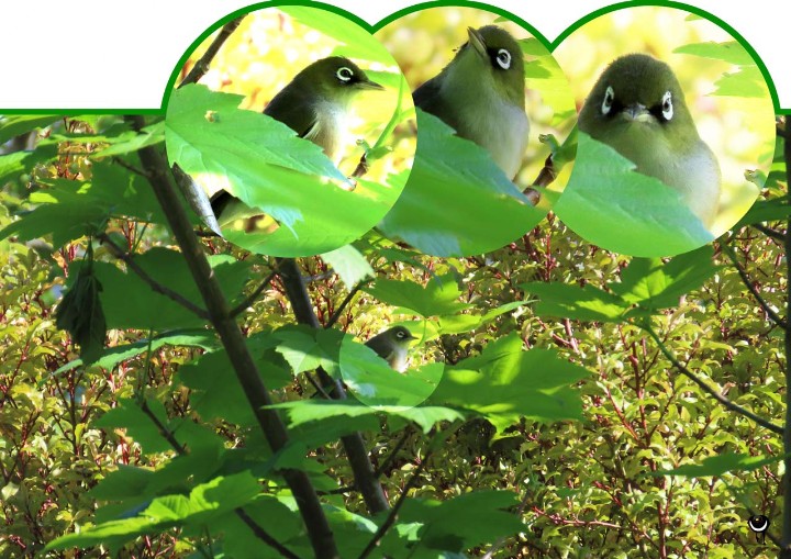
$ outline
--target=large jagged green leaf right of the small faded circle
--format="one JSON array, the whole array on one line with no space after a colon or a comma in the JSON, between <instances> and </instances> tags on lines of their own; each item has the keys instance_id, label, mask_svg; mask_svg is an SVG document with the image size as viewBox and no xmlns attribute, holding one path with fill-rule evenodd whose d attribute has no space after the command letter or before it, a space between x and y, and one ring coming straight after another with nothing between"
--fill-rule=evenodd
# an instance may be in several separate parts
<instances>
[{"instance_id":1,"label":"large jagged green leaf right of the small faded circle","mask_svg":"<svg viewBox=\"0 0 791 559\"><path fill-rule=\"evenodd\" d=\"M499 433L520 417L545 423L581 420L580 394L569 385L589 374L557 351L523 351L520 337L510 334L490 342L481 355L446 368L430 403L476 412Z\"/></svg>"}]
</instances>

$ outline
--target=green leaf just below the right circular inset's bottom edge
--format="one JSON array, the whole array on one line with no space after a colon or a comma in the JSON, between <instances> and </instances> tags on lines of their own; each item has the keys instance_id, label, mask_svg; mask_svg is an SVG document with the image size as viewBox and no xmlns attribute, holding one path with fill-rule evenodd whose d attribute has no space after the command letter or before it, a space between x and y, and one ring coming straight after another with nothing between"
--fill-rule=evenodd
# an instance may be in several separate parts
<instances>
[{"instance_id":1,"label":"green leaf just below the right circular inset's bottom edge","mask_svg":"<svg viewBox=\"0 0 791 559\"><path fill-rule=\"evenodd\" d=\"M621 283L609 283L628 303L653 310L677 306L679 298L699 289L721 266L714 266L711 245L679 255L669 262L634 258L621 272Z\"/></svg>"}]
</instances>

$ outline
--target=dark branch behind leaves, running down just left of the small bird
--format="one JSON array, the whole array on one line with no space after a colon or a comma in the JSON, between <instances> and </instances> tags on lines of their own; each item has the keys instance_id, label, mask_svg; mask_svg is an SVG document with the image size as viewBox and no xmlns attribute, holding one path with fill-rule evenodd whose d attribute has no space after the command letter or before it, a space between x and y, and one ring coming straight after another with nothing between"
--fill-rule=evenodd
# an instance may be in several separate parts
<instances>
[{"instance_id":1,"label":"dark branch behind leaves, running down just left of the small bird","mask_svg":"<svg viewBox=\"0 0 791 559\"><path fill-rule=\"evenodd\" d=\"M314 328L321 328L319 318L316 318L313 312L313 304L308 294L308 289L297 266L297 260L293 258L278 258L277 269L280 273L283 288L286 289L286 297L288 297L291 302L291 309L297 317L297 322ZM332 387L331 395L333 399L346 399L346 391L339 380L330 377L322 368L316 369L316 373L319 374L319 383L322 387ZM366 450L360 434L354 433L352 435L345 435L341 437L341 443L344 446L352 472L354 473L354 484L359 488L368 512L377 514L389 510L390 504L385 496L385 491L379 480L374 474L374 466L370 463L368 451Z\"/></svg>"}]
</instances>

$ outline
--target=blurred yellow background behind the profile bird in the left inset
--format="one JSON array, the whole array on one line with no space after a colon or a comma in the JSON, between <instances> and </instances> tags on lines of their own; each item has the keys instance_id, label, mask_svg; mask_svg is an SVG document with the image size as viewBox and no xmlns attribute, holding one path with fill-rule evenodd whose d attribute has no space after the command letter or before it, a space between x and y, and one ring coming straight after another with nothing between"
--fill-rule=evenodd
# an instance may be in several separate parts
<instances>
[{"instance_id":1,"label":"blurred yellow background behind the profile bird in the left inset","mask_svg":"<svg viewBox=\"0 0 791 559\"><path fill-rule=\"evenodd\" d=\"M305 8L301 8L305 10ZM349 25L349 21L333 12L315 10L328 24ZM194 63L203 55L219 31L207 37L185 64L183 78ZM377 40L367 32L370 42ZM366 37L367 38L367 37ZM200 79L214 91L245 96L242 109L261 111L280 89L311 63L332 56L343 44L276 8L266 8L247 14L242 24L223 44L213 58L209 71ZM378 47L378 44L377 44ZM350 137L374 145L385 131L399 107L399 85L403 81L398 64L393 59L385 65L353 58L369 78L386 87L385 91L365 91L354 101L355 118L352 121ZM401 110L412 107L409 87L403 85ZM409 126L403 126L410 130ZM411 126L414 131L414 125ZM397 174L412 166L416 139L414 134L389 135L388 147L392 152L377 159L365 178L383 182L388 175ZM347 146L338 167L352 175L363 155L363 147Z\"/></svg>"}]
</instances>

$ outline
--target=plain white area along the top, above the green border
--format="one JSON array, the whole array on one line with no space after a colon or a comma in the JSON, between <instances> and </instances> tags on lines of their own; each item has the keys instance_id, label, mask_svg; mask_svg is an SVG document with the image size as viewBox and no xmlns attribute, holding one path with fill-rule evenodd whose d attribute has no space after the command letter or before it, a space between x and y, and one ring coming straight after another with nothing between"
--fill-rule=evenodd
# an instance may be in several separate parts
<instances>
[{"instance_id":1,"label":"plain white area along the top, above the green border","mask_svg":"<svg viewBox=\"0 0 791 559\"><path fill-rule=\"evenodd\" d=\"M2 109L158 109L181 55L212 23L249 0L3 2ZM374 24L411 0L328 0ZM553 41L615 2L493 0ZM769 69L791 109L791 2L689 0L727 22Z\"/></svg>"}]
</instances>

